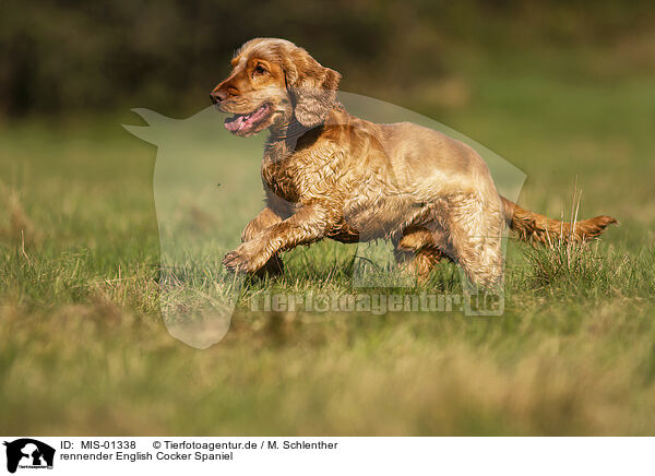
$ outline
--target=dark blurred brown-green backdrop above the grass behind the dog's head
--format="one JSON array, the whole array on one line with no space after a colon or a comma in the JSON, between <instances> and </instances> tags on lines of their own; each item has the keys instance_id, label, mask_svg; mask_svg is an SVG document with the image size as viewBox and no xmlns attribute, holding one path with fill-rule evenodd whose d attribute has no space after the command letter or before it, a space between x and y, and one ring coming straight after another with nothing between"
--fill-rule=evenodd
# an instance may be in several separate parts
<instances>
[{"instance_id":1,"label":"dark blurred brown-green backdrop above the grass behind the dog's head","mask_svg":"<svg viewBox=\"0 0 655 476\"><path fill-rule=\"evenodd\" d=\"M433 111L466 106L489 64L585 82L650 73L654 17L645 0L5 1L0 109L192 114L239 45L274 36L343 72L345 91Z\"/></svg>"}]
</instances>

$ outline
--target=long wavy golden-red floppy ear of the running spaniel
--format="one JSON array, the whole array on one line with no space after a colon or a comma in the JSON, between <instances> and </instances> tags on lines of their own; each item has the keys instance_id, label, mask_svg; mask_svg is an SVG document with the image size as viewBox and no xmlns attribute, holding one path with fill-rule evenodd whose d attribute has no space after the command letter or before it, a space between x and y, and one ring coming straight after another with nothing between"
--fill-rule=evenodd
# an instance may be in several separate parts
<instances>
[{"instance_id":1,"label":"long wavy golden-red floppy ear of the running spaniel","mask_svg":"<svg viewBox=\"0 0 655 476\"><path fill-rule=\"evenodd\" d=\"M341 74L322 67L302 48L285 55L283 68L287 87L295 104L298 122L312 128L325 120L336 102L336 90Z\"/></svg>"}]
</instances>

